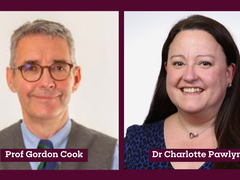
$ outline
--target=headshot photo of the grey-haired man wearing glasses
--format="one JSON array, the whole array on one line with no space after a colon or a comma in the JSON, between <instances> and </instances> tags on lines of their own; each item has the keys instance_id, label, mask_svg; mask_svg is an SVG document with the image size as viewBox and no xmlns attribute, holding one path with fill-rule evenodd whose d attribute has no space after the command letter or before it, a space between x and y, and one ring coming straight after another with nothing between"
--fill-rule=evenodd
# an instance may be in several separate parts
<instances>
[{"instance_id":1,"label":"headshot photo of the grey-haired man wearing glasses","mask_svg":"<svg viewBox=\"0 0 240 180\"><path fill-rule=\"evenodd\" d=\"M0 170L118 170L118 12L0 12L0 149L87 149L87 162Z\"/></svg>"}]
</instances>

